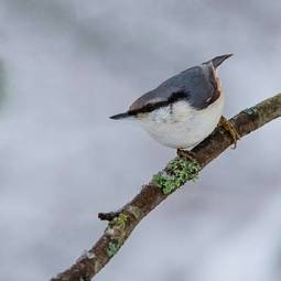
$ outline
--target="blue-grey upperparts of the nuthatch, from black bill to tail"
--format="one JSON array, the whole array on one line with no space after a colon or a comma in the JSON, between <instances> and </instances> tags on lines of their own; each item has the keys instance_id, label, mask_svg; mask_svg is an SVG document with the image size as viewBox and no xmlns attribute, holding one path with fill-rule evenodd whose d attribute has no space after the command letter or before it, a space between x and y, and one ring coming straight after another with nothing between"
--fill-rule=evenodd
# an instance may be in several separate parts
<instances>
[{"instance_id":1,"label":"blue-grey upperparts of the nuthatch, from black bill to tail","mask_svg":"<svg viewBox=\"0 0 281 281\"><path fill-rule=\"evenodd\" d=\"M122 119L141 112L151 112L176 100L186 100L197 110L206 108L219 97L214 69L230 56L231 54L216 56L172 76L155 89L138 98L127 112L110 118Z\"/></svg>"}]
</instances>

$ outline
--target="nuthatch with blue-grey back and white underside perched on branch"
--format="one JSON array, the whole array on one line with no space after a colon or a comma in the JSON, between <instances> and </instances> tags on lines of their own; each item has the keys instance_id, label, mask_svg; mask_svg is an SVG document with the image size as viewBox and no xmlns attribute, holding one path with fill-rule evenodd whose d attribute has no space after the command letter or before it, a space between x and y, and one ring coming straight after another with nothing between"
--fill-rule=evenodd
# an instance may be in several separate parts
<instances>
[{"instance_id":1,"label":"nuthatch with blue-grey back and white underside perched on branch","mask_svg":"<svg viewBox=\"0 0 281 281\"><path fill-rule=\"evenodd\" d=\"M216 56L172 76L110 118L137 121L155 141L177 151L192 150L219 123L236 147L239 134L223 116L225 94L218 76L219 66L230 56Z\"/></svg>"}]
</instances>

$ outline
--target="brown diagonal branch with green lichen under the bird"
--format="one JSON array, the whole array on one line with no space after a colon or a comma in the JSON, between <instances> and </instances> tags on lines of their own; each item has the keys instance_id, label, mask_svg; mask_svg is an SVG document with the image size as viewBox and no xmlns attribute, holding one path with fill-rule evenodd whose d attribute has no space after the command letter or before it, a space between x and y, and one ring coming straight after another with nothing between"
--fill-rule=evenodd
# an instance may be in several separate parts
<instances>
[{"instance_id":1,"label":"brown diagonal branch with green lichen under the bird","mask_svg":"<svg viewBox=\"0 0 281 281\"><path fill-rule=\"evenodd\" d=\"M278 117L281 117L281 94L242 110L229 121L240 137L244 137ZM173 159L120 210L99 214L101 219L110 220L102 236L75 264L54 277L52 281L90 280L116 255L144 216L186 181L194 180L201 169L231 144L230 134L221 127L216 128L192 150L197 161L187 160L183 155Z\"/></svg>"}]
</instances>

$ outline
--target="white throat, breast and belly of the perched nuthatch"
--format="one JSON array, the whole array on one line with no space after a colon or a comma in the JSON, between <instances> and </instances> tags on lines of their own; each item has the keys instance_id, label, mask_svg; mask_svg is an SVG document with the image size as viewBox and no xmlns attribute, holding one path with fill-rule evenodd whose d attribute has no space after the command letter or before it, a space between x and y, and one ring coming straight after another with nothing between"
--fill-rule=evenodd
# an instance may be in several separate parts
<instances>
[{"instance_id":1,"label":"white throat, breast and belly of the perched nuthatch","mask_svg":"<svg viewBox=\"0 0 281 281\"><path fill-rule=\"evenodd\" d=\"M174 149L191 149L216 128L224 109L224 94L203 110L177 101L138 118L140 125L156 141Z\"/></svg>"}]
</instances>

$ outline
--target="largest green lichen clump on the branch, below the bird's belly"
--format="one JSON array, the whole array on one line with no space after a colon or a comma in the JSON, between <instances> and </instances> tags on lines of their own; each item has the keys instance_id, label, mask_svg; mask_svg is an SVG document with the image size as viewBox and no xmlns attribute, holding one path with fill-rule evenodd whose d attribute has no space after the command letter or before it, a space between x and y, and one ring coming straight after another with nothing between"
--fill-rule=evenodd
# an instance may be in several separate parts
<instances>
[{"instance_id":1,"label":"largest green lichen clump on the branch, below the bird's belly","mask_svg":"<svg viewBox=\"0 0 281 281\"><path fill-rule=\"evenodd\" d=\"M152 177L152 183L158 185L164 194L170 194L187 181L195 181L201 171L196 160L175 158L170 161L165 171Z\"/></svg>"}]
</instances>

